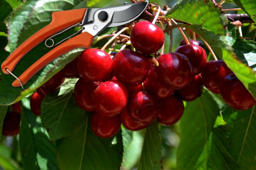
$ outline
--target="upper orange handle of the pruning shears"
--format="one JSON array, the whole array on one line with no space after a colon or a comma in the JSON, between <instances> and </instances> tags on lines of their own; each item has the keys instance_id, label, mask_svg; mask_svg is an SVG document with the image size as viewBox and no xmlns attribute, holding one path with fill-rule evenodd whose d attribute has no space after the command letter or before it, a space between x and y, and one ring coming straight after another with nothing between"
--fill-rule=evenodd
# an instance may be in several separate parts
<instances>
[{"instance_id":1,"label":"upper orange handle of the pruning shears","mask_svg":"<svg viewBox=\"0 0 256 170\"><path fill-rule=\"evenodd\" d=\"M43 40L62 31L63 29L67 29L68 27L81 22L84 18L85 11L86 8L53 12L52 22L29 37L17 49L15 49L15 51L9 55L6 61L2 63L2 71L5 74L9 74L6 69L12 72L20 59Z\"/></svg>"}]
</instances>

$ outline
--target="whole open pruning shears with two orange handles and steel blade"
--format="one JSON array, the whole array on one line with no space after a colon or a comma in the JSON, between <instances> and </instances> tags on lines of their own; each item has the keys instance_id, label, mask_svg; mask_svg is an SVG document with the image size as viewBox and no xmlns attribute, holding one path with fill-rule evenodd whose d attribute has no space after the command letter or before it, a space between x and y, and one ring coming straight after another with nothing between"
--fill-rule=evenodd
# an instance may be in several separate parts
<instances>
[{"instance_id":1,"label":"whole open pruning shears with two orange handles and steel blade","mask_svg":"<svg viewBox=\"0 0 256 170\"><path fill-rule=\"evenodd\" d=\"M40 29L34 35L29 37L20 46L12 52L9 57L2 63L1 69L5 74L12 74L15 66L23 58L26 53L37 46L42 41L49 48L56 46L38 61L33 63L19 77L13 75L16 80L12 86L22 86L29 81L39 70L51 61L79 47L90 48L93 38L99 35L107 27L124 25L136 19L143 13L148 0L140 3L125 4L121 6L113 6L98 9L74 9L52 13L52 21L44 28ZM54 43L52 37L61 34L76 26L81 26L78 32L65 38L61 42ZM48 41L52 41L52 45L47 45Z\"/></svg>"}]
</instances>

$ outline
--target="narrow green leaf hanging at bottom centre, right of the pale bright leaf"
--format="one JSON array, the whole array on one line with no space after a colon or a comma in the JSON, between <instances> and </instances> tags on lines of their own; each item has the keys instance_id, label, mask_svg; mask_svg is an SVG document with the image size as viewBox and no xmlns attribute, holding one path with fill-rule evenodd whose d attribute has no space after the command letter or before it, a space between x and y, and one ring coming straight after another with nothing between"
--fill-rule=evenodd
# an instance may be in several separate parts
<instances>
[{"instance_id":1,"label":"narrow green leaf hanging at bottom centre, right of the pale bright leaf","mask_svg":"<svg viewBox=\"0 0 256 170\"><path fill-rule=\"evenodd\" d=\"M162 168L159 133L156 121L146 128L138 170L160 170Z\"/></svg>"}]
</instances>

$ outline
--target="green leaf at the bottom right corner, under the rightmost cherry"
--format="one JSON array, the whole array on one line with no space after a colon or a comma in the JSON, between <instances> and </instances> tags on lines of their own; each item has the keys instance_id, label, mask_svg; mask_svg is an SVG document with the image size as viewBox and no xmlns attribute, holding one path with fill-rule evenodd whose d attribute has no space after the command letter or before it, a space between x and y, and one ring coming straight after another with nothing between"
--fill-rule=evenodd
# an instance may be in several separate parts
<instances>
[{"instance_id":1,"label":"green leaf at the bottom right corner, under the rightmost cherry","mask_svg":"<svg viewBox=\"0 0 256 170\"><path fill-rule=\"evenodd\" d=\"M242 170L256 167L256 109L234 110L228 107L223 112L224 120L230 125L228 133L229 153L239 163Z\"/></svg>"}]
</instances>

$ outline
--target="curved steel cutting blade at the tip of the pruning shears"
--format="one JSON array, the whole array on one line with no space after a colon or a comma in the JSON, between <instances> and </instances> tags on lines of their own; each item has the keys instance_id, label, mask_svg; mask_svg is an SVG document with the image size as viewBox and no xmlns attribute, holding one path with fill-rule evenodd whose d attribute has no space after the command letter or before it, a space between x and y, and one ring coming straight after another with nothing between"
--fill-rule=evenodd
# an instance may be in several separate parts
<instances>
[{"instance_id":1,"label":"curved steel cutting blade at the tip of the pruning shears","mask_svg":"<svg viewBox=\"0 0 256 170\"><path fill-rule=\"evenodd\" d=\"M148 0L140 3L132 3L119 7L114 7L112 23L108 27L120 26L135 20L148 6Z\"/></svg>"}]
</instances>

